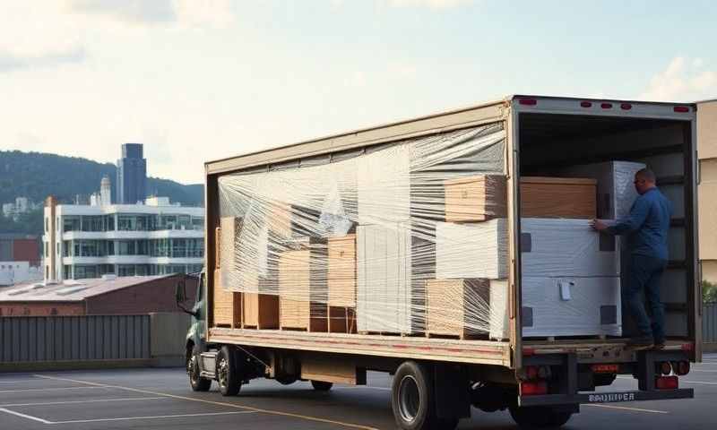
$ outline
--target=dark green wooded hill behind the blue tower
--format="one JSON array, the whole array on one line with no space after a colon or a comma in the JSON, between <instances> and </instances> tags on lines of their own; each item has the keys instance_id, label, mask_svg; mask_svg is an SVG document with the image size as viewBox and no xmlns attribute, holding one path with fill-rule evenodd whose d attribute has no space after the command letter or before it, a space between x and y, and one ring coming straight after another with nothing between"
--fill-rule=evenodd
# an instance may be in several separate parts
<instances>
[{"instance_id":1,"label":"dark green wooded hill behind the blue tower","mask_svg":"<svg viewBox=\"0 0 717 430\"><path fill-rule=\"evenodd\" d=\"M41 152L0 151L0 203L14 202L17 196L42 202L50 194L60 202L73 202L76 194L86 197L98 191L105 175L112 182L112 195L117 195L114 164ZM188 206L203 205L202 184L183 185L148 177L147 193L167 196L171 202Z\"/></svg>"}]
</instances>

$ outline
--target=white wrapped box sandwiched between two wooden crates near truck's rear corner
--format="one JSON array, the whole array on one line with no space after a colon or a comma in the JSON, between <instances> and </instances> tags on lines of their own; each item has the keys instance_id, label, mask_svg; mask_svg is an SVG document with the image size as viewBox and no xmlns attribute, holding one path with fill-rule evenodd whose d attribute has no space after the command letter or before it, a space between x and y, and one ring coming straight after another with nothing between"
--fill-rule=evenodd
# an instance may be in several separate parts
<instances>
[{"instance_id":1,"label":"white wrapped box sandwiched between two wooden crates near truck's rear corner","mask_svg":"<svg viewBox=\"0 0 717 430\"><path fill-rule=\"evenodd\" d=\"M436 223L436 278L507 278L507 219Z\"/></svg>"}]
</instances>

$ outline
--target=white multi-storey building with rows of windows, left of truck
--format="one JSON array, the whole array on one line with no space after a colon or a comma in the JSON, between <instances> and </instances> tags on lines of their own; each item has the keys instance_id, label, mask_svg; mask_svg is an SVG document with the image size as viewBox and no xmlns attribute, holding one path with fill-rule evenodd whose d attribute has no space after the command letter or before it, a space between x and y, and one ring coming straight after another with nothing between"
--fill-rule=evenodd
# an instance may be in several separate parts
<instances>
[{"instance_id":1,"label":"white multi-storey building with rows of windows, left of truck","mask_svg":"<svg viewBox=\"0 0 717 430\"><path fill-rule=\"evenodd\" d=\"M45 279L201 271L203 237L203 208L57 204L48 197L42 250Z\"/></svg>"}]
</instances>

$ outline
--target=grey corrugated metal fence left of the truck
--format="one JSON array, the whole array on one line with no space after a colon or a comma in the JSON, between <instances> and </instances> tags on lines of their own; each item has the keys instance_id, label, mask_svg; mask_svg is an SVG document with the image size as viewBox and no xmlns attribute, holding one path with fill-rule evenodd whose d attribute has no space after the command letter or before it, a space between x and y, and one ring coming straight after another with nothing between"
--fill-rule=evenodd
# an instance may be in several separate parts
<instances>
[{"instance_id":1,"label":"grey corrugated metal fence left of the truck","mask_svg":"<svg viewBox=\"0 0 717 430\"><path fill-rule=\"evenodd\" d=\"M150 358L150 315L0 317L0 363Z\"/></svg>"}]
</instances>

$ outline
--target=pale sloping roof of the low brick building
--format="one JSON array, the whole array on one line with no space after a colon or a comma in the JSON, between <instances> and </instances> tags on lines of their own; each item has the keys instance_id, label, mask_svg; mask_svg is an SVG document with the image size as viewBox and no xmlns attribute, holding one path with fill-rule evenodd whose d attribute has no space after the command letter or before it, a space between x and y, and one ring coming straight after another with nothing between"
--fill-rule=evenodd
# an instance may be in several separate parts
<instances>
[{"instance_id":1,"label":"pale sloping roof of the low brick building","mask_svg":"<svg viewBox=\"0 0 717 430\"><path fill-rule=\"evenodd\" d=\"M117 289L133 287L171 276L174 275L65 280L48 285L42 282L25 283L0 288L0 302L81 302L87 297L99 296Z\"/></svg>"}]
</instances>

